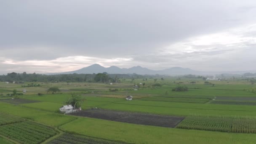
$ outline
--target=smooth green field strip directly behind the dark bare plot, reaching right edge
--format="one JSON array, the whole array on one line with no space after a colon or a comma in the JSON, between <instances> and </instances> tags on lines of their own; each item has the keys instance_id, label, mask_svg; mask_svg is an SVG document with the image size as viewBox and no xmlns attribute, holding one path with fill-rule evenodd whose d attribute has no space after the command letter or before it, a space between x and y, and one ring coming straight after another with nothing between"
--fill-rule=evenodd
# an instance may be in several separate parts
<instances>
[{"instance_id":1,"label":"smooth green field strip directly behind the dark bare plot, reaching right edge","mask_svg":"<svg viewBox=\"0 0 256 144\"><path fill-rule=\"evenodd\" d=\"M147 112L161 115L243 115L256 116L254 106L216 105L216 104L190 104L163 101L121 101L100 106L99 108L123 110L131 112Z\"/></svg>"}]
</instances>

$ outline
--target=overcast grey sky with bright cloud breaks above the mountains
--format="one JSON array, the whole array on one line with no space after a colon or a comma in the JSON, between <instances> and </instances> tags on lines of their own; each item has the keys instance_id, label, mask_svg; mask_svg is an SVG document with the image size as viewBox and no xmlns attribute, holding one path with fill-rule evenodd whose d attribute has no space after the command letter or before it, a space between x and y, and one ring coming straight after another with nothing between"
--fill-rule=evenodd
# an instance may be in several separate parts
<instances>
[{"instance_id":1,"label":"overcast grey sky with bright cloud breaks above the mountains","mask_svg":"<svg viewBox=\"0 0 256 144\"><path fill-rule=\"evenodd\" d=\"M0 0L0 74L256 70L256 0Z\"/></svg>"}]
</instances>

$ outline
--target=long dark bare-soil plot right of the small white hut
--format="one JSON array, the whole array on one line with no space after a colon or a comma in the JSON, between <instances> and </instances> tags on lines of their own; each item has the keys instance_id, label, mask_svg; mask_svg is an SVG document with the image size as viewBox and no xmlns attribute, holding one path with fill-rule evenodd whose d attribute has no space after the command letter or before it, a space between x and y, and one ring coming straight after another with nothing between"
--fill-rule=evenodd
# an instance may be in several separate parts
<instances>
[{"instance_id":1,"label":"long dark bare-soil plot right of the small white hut","mask_svg":"<svg viewBox=\"0 0 256 144\"><path fill-rule=\"evenodd\" d=\"M160 127L175 128L184 117L174 117L168 115L154 115L146 113L121 112L107 109L89 109L72 113L71 115L113 120L123 123L133 123L139 125L153 125Z\"/></svg>"}]
</instances>

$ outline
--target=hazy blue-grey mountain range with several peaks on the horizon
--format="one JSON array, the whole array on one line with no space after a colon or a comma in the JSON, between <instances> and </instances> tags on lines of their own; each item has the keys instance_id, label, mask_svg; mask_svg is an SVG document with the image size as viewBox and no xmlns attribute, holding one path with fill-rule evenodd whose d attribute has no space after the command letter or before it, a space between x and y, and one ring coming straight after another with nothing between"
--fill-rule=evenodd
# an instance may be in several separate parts
<instances>
[{"instance_id":1,"label":"hazy blue-grey mountain range with several peaks on the horizon","mask_svg":"<svg viewBox=\"0 0 256 144\"><path fill-rule=\"evenodd\" d=\"M102 73L107 72L109 74L139 74L139 75L188 75L188 74L199 74L200 72L194 71L192 69L182 68L182 67L172 67L170 69L164 70L151 70L147 68L143 68L141 66L131 67L131 68L119 68L116 66L111 66L108 68L102 67L99 64L93 64L89 67L84 67L82 69L78 69L71 72L60 72L60 73L51 73L48 75L56 75L56 74L93 74L93 73Z\"/></svg>"}]
</instances>

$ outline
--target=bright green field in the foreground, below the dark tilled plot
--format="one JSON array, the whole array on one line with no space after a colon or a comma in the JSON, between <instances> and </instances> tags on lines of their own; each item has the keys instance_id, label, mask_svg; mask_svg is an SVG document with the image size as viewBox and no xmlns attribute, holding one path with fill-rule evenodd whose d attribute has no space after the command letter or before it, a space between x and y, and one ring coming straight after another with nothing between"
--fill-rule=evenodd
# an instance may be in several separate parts
<instances>
[{"instance_id":1,"label":"bright green field in the foreground, below the dark tilled plot","mask_svg":"<svg viewBox=\"0 0 256 144\"><path fill-rule=\"evenodd\" d=\"M254 144L256 141L255 134L160 128L93 118L79 118L62 125L61 129L136 144Z\"/></svg>"}]
</instances>

